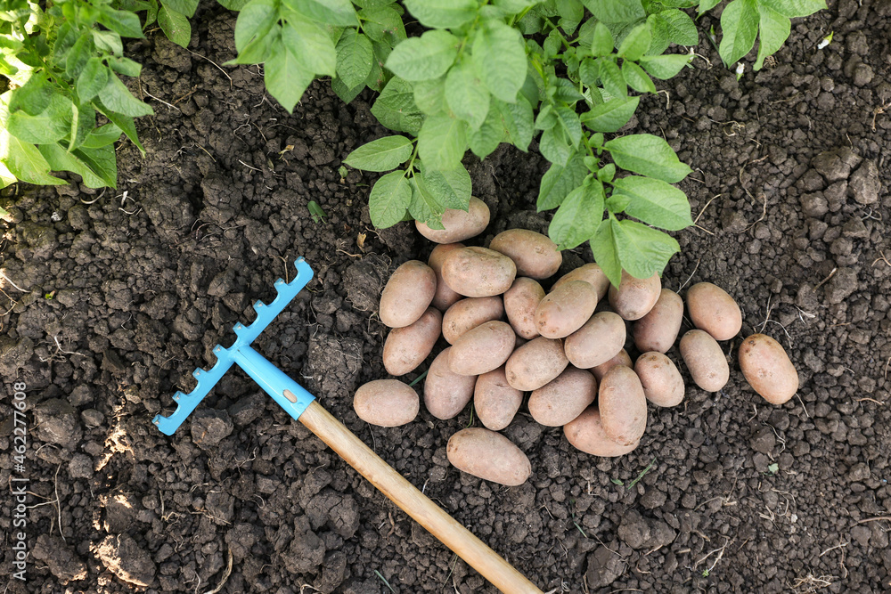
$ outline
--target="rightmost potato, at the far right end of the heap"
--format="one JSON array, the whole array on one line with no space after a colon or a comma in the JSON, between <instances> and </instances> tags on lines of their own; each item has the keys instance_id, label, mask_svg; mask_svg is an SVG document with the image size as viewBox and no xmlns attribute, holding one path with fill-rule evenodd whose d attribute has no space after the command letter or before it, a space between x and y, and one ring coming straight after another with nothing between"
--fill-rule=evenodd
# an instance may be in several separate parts
<instances>
[{"instance_id":1,"label":"rightmost potato, at the far right end of the heap","mask_svg":"<svg viewBox=\"0 0 891 594\"><path fill-rule=\"evenodd\" d=\"M749 386L771 404L782 404L798 391L798 372L780 343L753 334L740 346L740 369Z\"/></svg>"}]
</instances>

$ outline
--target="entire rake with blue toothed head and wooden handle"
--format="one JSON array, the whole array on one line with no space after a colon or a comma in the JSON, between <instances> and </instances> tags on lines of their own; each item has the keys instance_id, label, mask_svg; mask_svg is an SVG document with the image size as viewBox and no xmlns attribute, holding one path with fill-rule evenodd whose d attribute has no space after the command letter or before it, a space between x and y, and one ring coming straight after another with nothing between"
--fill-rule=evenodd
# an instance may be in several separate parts
<instances>
[{"instance_id":1,"label":"entire rake with blue toothed head and wooden handle","mask_svg":"<svg viewBox=\"0 0 891 594\"><path fill-rule=\"evenodd\" d=\"M297 267L297 278L290 282L282 279L275 281L278 295L273 302L266 305L262 301L257 301L254 304L257 319L249 326L235 324L233 330L237 338L233 346L214 347L217 364L207 371L194 370L192 375L198 380L198 386L189 394L177 392L173 397L177 403L176 412L169 417L156 416L152 421L155 426L161 433L173 435L195 410L201 399L208 395L217 381L233 363L236 363L291 417L303 423L346 460L347 464L356 468L380 492L462 557L495 587L507 594L542 594L542 590L536 588L535 584L529 582L494 550L489 549L483 541L446 514L396 470L390 468L387 462L381 460L371 448L353 435L347 427L341 425L338 419L325 411L321 404L315 402L315 396L309 394L271 362L266 361L263 355L251 348L250 343L313 278L312 269L302 257L298 258L294 265Z\"/></svg>"}]
</instances>

